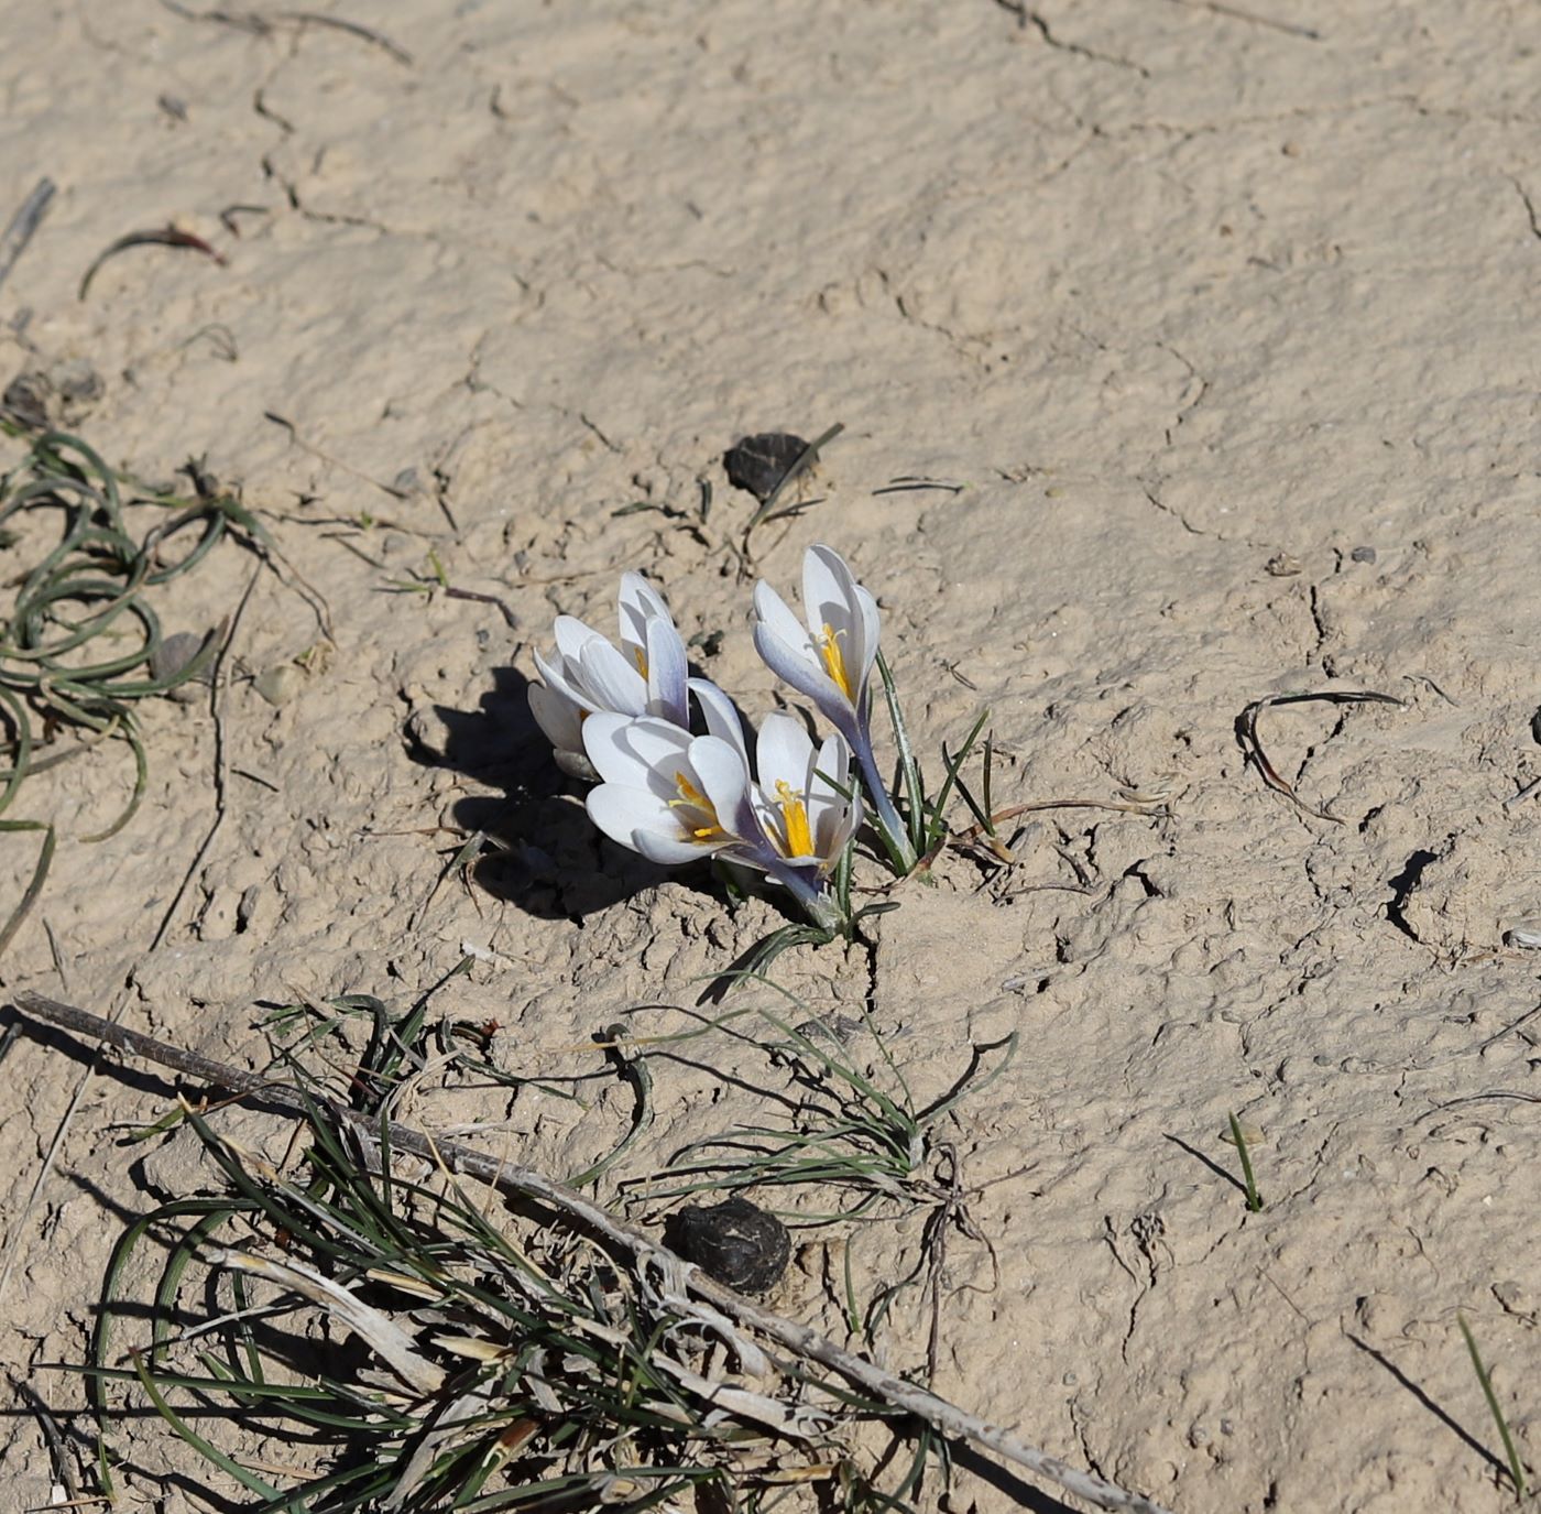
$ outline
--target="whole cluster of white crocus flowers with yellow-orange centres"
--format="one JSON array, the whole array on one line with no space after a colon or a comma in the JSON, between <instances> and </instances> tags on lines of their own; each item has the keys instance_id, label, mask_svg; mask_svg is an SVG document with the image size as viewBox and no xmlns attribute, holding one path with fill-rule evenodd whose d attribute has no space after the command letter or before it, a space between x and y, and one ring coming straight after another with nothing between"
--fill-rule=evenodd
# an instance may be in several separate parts
<instances>
[{"instance_id":1,"label":"whole cluster of white crocus flowers with yellow-orange centres","mask_svg":"<svg viewBox=\"0 0 1541 1514\"><path fill-rule=\"evenodd\" d=\"M770 714L752 752L732 700L689 677L656 590L627 574L619 598L619 649L561 615L555 657L535 658L544 686L530 686L530 711L558 766L598 780L589 817L652 862L723 857L789 890L820 925L843 924L828 883L863 819L854 763L880 829L903 836L872 757L872 595L824 546L803 560L806 624L769 584L755 587L757 651L835 729L815 746L797 718Z\"/></svg>"}]
</instances>

